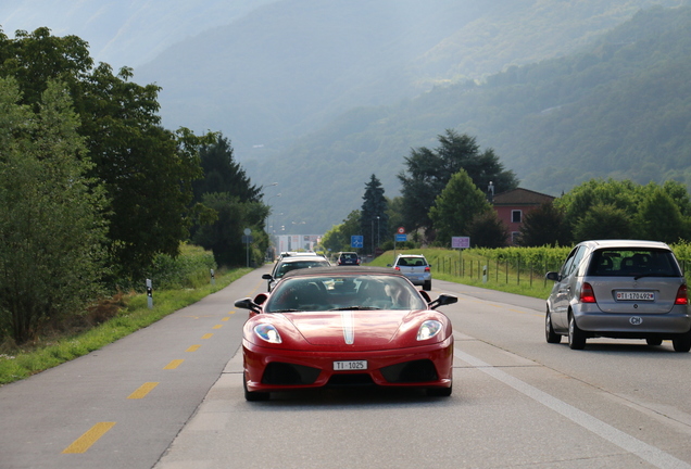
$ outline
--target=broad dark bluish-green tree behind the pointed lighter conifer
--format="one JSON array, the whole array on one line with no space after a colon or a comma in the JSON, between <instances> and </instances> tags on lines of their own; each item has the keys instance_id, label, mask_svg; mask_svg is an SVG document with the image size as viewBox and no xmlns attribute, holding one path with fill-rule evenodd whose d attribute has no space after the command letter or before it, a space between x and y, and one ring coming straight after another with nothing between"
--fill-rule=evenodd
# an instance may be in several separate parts
<instances>
[{"instance_id":1,"label":"broad dark bluish-green tree behind the pointed lighter conifer","mask_svg":"<svg viewBox=\"0 0 691 469\"><path fill-rule=\"evenodd\" d=\"M514 173L504 169L494 151L489 149L480 152L474 137L447 129L445 135L438 138L440 145L436 150L425 147L412 150L411 155L405 157L407 175L398 175L405 205L405 227L409 230L428 230L431 227L429 210L460 169L465 169L479 188L487 188L490 181L499 192L518 186Z\"/></svg>"}]
</instances>

